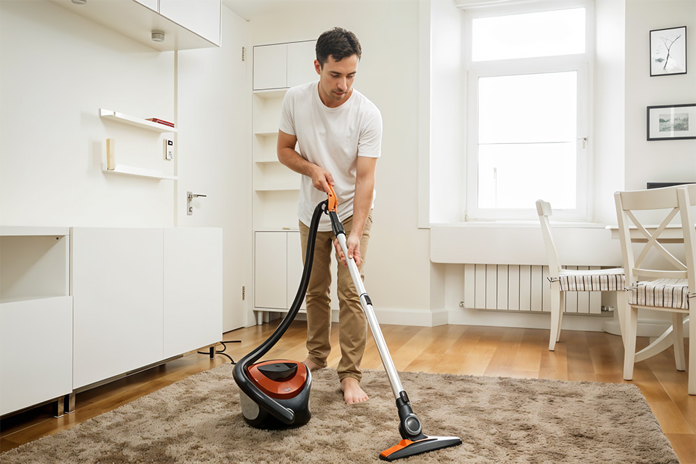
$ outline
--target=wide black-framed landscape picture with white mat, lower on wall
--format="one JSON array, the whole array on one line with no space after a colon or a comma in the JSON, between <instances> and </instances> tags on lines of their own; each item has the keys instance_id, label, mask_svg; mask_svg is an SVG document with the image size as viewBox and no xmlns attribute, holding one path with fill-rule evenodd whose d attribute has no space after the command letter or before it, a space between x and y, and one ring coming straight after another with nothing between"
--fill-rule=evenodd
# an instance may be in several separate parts
<instances>
[{"instance_id":1,"label":"wide black-framed landscape picture with white mat, lower on wall","mask_svg":"<svg viewBox=\"0 0 696 464\"><path fill-rule=\"evenodd\" d=\"M696 103L648 106L648 140L696 138Z\"/></svg>"}]
</instances>

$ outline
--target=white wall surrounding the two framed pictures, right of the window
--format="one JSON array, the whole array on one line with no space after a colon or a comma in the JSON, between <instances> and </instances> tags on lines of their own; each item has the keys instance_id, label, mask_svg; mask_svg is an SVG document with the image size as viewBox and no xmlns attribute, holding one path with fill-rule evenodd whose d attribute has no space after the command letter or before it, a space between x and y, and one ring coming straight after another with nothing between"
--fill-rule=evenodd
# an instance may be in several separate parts
<instances>
[{"instance_id":1,"label":"white wall surrounding the two framed pictures, right of the window","mask_svg":"<svg viewBox=\"0 0 696 464\"><path fill-rule=\"evenodd\" d=\"M650 77L649 31L678 26L688 73ZM696 140L646 140L646 107L682 103L696 103L696 1L626 0L626 189L696 181Z\"/></svg>"}]
</instances>

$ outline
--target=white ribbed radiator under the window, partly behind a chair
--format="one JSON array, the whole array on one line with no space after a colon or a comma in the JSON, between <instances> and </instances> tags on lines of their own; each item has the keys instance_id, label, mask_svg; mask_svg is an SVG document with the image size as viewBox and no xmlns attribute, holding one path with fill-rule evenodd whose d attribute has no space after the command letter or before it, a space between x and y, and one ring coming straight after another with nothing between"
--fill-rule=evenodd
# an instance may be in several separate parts
<instances>
[{"instance_id":1,"label":"white ribbed radiator under the window, partly behind a chair","mask_svg":"<svg viewBox=\"0 0 696 464\"><path fill-rule=\"evenodd\" d=\"M563 266L599 269L599 266ZM548 266L464 264L464 307L480 310L551 311ZM601 314L600 291L565 292L565 312Z\"/></svg>"}]
</instances>

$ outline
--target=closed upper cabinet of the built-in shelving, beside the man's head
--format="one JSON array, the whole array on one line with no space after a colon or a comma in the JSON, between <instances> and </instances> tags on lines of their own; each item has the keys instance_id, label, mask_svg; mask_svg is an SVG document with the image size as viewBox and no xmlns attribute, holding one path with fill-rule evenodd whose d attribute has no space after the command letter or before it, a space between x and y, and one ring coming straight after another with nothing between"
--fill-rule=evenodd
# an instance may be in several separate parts
<instances>
[{"instance_id":1,"label":"closed upper cabinet of the built-in shelving, beside the man's head","mask_svg":"<svg viewBox=\"0 0 696 464\"><path fill-rule=\"evenodd\" d=\"M254 47L254 90L289 88L319 79L315 40Z\"/></svg>"}]
</instances>

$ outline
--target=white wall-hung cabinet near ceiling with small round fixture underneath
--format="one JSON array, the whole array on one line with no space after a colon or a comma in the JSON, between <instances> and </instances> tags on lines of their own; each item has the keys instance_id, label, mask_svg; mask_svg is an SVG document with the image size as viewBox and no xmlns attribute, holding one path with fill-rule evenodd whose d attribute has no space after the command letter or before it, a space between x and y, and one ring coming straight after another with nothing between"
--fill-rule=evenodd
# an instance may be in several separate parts
<instances>
[{"instance_id":1,"label":"white wall-hung cabinet near ceiling with small round fixture underneath","mask_svg":"<svg viewBox=\"0 0 696 464\"><path fill-rule=\"evenodd\" d=\"M220 0L51 1L157 51L220 45ZM153 31L164 40L154 42Z\"/></svg>"}]
</instances>

